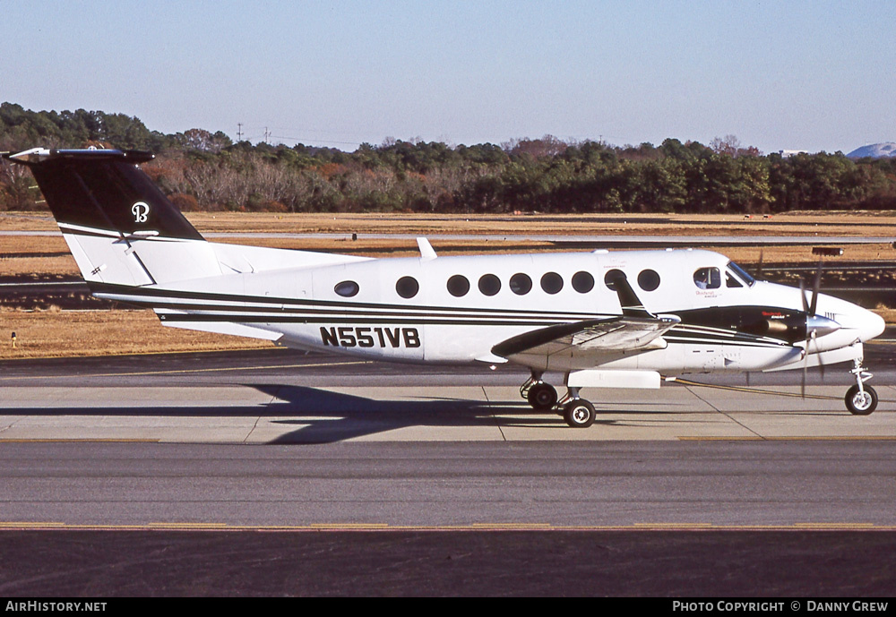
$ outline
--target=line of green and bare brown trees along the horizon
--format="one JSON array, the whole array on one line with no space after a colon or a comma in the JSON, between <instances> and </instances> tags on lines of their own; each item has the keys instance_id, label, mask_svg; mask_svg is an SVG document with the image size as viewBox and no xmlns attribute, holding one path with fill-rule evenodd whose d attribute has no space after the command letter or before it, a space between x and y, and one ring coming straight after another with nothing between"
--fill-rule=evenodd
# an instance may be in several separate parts
<instances>
[{"instance_id":1,"label":"line of green and bare brown trees along the horizon","mask_svg":"<svg viewBox=\"0 0 896 617\"><path fill-rule=\"evenodd\" d=\"M388 139L354 152L289 148L191 129L150 131L99 111L0 105L0 150L89 145L151 150L143 168L184 210L418 212L780 212L896 210L896 159L762 156L731 136L702 145L610 146L552 136L451 147ZM4 163L0 210L39 208Z\"/></svg>"}]
</instances>

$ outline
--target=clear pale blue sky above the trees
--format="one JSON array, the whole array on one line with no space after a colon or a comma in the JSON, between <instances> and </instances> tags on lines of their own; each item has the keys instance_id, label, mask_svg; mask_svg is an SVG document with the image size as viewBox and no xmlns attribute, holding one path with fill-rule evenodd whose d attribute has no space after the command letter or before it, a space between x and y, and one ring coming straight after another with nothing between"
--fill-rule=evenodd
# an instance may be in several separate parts
<instances>
[{"instance_id":1,"label":"clear pale blue sky above the trees","mask_svg":"<svg viewBox=\"0 0 896 617\"><path fill-rule=\"evenodd\" d=\"M0 0L0 100L333 145L896 141L896 3Z\"/></svg>"}]
</instances>

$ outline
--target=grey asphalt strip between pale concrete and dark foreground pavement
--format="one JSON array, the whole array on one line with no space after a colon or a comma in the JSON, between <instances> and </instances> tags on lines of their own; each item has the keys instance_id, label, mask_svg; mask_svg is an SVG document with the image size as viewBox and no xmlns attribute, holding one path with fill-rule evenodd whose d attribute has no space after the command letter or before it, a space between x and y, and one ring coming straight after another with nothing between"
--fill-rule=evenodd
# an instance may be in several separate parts
<instances>
[{"instance_id":1,"label":"grey asphalt strip between pale concrete and dark foreground pavement","mask_svg":"<svg viewBox=\"0 0 896 617\"><path fill-rule=\"evenodd\" d=\"M4 529L896 529L892 441L0 445Z\"/></svg>"}]
</instances>

